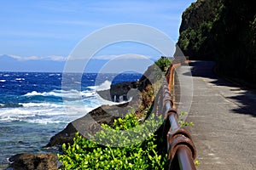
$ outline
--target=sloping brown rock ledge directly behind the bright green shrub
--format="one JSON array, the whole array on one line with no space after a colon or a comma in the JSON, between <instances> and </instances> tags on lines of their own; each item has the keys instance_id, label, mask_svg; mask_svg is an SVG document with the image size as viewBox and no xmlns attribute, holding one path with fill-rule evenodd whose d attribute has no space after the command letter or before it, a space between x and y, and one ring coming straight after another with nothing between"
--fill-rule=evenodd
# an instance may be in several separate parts
<instances>
[{"instance_id":1,"label":"sloping brown rock ledge directly behind the bright green shrub","mask_svg":"<svg viewBox=\"0 0 256 170\"><path fill-rule=\"evenodd\" d=\"M85 138L89 139L90 134L96 133L101 124L111 125L117 117L124 117L127 111L137 109L141 104L140 93L136 89L131 89L132 100L119 105L102 105L93 111L90 111L83 117L68 123L60 133L51 137L45 147L60 146L61 144L73 144L75 133L79 131Z\"/></svg>"}]
</instances>

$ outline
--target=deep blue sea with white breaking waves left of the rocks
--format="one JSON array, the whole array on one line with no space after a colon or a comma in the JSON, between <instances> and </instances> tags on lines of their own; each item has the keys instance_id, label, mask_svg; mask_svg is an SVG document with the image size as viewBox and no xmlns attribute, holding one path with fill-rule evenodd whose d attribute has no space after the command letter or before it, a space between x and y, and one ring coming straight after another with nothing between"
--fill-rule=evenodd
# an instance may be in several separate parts
<instances>
[{"instance_id":1,"label":"deep blue sea with white breaking waves left of the rocks","mask_svg":"<svg viewBox=\"0 0 256 170\"><path fill-rule=\"evenodd\" d=\"M42 146L68 122L100 105L114 104L102 99L97 90L108 89L117 82L135 81L142 75L84 73L78 81L79 75L70 73L65 76L69 84L63 84L62 76L62 73L0 72L0 169L15 154L49 151ZM80 89L73 89L72 84ZM63 88L65 85L69 88ZM81 105L82 101L83 112L67 112L63 99L65 105Z\"/></svg>"}]
</instances>

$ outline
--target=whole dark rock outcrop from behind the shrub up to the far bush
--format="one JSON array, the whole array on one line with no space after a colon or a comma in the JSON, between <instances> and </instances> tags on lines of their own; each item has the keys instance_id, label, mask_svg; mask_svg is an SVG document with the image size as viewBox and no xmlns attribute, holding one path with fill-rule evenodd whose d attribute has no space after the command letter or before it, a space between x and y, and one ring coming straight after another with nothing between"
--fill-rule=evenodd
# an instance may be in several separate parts
<instances>
[{"instance_id":1,"label":"whole dark rock outcrop from behind the shrub up to the far bush","mask_svg":"<svg viewBox=\"0 0 256 170\"><path fill-rule=\"evenodd\" d=\"M93 111L90 111L83 117L68 123L60 133L56 133L51 137L49 143L45 147L61 146L61 144L73 144L75 133L79 132L86 139L90 139L90 135L96 133L101 124L113 124L114 119L124 117L131 109L137 110L142 104L142 92L148 84L151 84L157 79L162 78L161 71L155 71L154 65L148 67L143 77L137 82L121 82L111 86L109 90L97 92L103 99L113 100L113 95L120 96L124 94L129 102L119 105L102 105Z\"/></svg>"}]
</instances>

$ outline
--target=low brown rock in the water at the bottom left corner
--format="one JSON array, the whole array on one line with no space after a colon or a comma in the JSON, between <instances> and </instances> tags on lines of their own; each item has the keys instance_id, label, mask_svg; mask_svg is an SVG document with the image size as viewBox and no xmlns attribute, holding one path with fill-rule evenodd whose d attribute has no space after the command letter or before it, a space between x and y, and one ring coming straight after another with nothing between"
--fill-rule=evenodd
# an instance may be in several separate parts
<instances>
[{"instance_id":1,"label":"low brown rock in the water at the bottom left corner","mask_svg":"<svg viewBox=\"0 0 256 170\"><path fill-rule=\"evenodd\" d=\"M17 154L9 158L7 170L57 170L57 156L52 153L33 155Z\"/></svg>"}]
</instances>

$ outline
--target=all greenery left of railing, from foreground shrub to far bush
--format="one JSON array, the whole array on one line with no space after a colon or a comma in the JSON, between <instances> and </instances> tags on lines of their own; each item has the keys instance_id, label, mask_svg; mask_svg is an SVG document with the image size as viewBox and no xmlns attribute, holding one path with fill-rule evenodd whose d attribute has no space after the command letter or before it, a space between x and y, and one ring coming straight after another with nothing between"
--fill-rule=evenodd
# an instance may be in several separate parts
<instances>
[{"instance_id":1,"label":"all greenery left of railing, from foreground shrub to far bush","mask_svg":"<svg viewBox=\"0 0 256 170\"><path fill-rule=\"evenodd\" d=\"M142 104L137 111L128 111L111 126L102 124L102 130L90 139L76 133L73 144L63 144L64 154L58 155L62 169L164 169L167 155L162 146L165 144L156 133L163 119L154 116L152 110L155 94L171 60L161 58L155 65L149 74L155 77L155 82L143 89Z\"/></svg>"}]
</instances>

